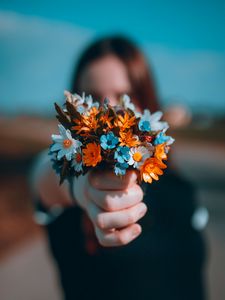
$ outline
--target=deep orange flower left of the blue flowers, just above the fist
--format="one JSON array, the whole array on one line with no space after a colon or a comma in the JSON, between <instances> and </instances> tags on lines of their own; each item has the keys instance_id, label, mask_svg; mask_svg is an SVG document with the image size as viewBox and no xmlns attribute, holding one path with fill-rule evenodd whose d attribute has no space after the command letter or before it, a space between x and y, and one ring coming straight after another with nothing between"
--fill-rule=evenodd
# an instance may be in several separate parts
<instances>
[{"instance_id":1,"label":"deep orange flower left of the blue flowers, just above the fist","mask_svg":"<svg viewBox=\"0 0 225 300\"><path fill-rule=\"evenodd\" d=\"M88 167L95 167L102 160L101 147L96 143L89 143L83 149L83 162Z\"/></svg>"}]
</instances>

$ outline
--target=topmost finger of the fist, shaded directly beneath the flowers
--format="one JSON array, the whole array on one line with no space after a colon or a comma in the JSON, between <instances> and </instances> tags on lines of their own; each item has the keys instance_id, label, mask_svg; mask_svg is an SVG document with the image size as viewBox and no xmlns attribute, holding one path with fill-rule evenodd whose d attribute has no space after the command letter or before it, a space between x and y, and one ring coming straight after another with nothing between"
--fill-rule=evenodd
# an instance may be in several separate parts
<instances>
[{"instance_id":1,"label":"topmost finger of the fist, shaded directly beneath the flowers","mask_svg":"<svg viewBox=\"0 0 225 300\"><path fill-rule=\"evenodd\" d=\"M90 184L98 190L125 190L135 184L137 173L128 170L126 176L116 176L113 171L94 171L89 174Z\"/></svg>"}]
</instances>

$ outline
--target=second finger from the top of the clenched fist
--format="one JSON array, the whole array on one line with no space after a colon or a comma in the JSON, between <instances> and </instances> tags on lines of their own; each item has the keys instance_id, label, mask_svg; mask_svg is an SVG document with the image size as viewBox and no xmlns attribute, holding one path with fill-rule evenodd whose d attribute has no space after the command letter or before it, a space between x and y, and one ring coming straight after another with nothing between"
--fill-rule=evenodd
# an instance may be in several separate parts
<instances>
[{"instance_id":1,"label":"second finger from the top of the clenched fist","mask_svg":"<svg viewBox=\"0 0 225 300\"><path fill-rule=\"evenodd\" d=\"M87 186L87 196L95 204L106 211L117 211L139 203L143 199L143 191L137 184L125 191L101 191Z\"/></svg>"}]
</instances>

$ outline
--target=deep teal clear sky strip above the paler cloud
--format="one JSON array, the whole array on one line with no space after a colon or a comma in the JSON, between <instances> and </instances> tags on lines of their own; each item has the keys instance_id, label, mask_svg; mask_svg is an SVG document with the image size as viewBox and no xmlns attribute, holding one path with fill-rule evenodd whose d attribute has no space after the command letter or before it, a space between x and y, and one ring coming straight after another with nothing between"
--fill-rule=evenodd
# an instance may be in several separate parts
<instances>
[{"instance_id":1,"label":"deep teal clear sky strip above the paler cloud","mask_svg":"<svg viewBox=\"0 0 225 300\"><path fill-rule=\"evenodd\" d=\"M140 42L225 51L224 0L1 0L0 9L61 20L99 33L130 32Z\"/></svg>"}]
</instances>

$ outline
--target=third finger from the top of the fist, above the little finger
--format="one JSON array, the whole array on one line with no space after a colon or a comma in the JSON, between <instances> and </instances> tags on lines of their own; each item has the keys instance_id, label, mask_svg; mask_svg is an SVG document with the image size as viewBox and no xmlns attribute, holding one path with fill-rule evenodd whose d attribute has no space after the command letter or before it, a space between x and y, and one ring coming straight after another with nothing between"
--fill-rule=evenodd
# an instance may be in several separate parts
<instances>
[{"instance_id":1,"label":"third finger from the top of the fist, above the little finger","mask_svg":"<svg viewBox=\"0 0 225 300\"><path fill-rule=\"evenodd\" d=\"M88 214L95 226L101 230L123 228L136 223L147 211L145 203L138 203L128 209L116 212L104 212L94 203L89 203Z\"/></svg>"}]
</instances>

